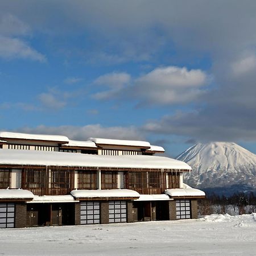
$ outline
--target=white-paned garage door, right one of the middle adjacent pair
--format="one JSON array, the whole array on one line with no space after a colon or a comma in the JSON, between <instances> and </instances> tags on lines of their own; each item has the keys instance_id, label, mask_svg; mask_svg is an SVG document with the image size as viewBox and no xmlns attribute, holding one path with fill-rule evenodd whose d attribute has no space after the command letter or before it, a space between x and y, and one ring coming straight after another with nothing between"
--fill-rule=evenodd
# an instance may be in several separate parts
<instances>
[{"instance_id":1,"label":"white-paned garage door, right one of the middle adjacent pair","mask_svg":"<svg viewBox=\"0 0 256 256\"><path fill-rule=\"evenodd\" d=\"M109 223L126 222L126 201L109 201Z\"/></svg>"}]
</instances>

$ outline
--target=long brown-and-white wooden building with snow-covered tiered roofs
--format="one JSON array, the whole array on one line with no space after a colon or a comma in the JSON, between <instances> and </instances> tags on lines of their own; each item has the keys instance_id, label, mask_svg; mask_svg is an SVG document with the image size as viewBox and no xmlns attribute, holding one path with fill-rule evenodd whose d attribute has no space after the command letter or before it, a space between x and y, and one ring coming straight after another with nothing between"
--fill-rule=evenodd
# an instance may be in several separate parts
<instances>
[{"instance_id":1,"label":"long brown-and-white wooden building with snow-covered tiered roofs","mask_svg":"<svg viewBox=\"0 0 256 256\"><path fill-rule=\"evenodd\" d=\"M0 132L0 228L197 218L184 162L144 141Z\"/></svg>"}]
</instances>

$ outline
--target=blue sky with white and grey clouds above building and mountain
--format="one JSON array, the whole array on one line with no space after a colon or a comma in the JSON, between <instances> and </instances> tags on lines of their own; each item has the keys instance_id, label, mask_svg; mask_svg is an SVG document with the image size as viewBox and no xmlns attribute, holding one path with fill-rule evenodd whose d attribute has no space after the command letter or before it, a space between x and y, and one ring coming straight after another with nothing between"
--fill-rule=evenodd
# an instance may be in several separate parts
<instances>
[{"instance_id":1,"label":"blue sky with white and grey clouds above building and mountain","mask_svg":"<svg viewBox=\"0 0 256 256\"><path fill-rule=\"evenodd\" d=\"M0 130L256 153L255 1L0 2Z\"/></svg>"}]
</instances>

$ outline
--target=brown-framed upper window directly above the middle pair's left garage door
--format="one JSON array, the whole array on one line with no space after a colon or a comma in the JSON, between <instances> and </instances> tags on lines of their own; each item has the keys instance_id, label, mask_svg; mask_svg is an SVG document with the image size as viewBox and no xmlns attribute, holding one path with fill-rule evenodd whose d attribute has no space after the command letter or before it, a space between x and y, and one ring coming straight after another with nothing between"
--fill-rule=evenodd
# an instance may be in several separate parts
<instances>
[{"instance_id":1,"label":"brown-framed upper window directly above the middle pair's left garage door","mask_svg":"<svg viewBox=\"0 0 256 256\"><path fill-rule=\"evenodd\" d=\"M78 187L80 189L97 189L97 172L79 171Z\"/></svg>"}]
</instances>

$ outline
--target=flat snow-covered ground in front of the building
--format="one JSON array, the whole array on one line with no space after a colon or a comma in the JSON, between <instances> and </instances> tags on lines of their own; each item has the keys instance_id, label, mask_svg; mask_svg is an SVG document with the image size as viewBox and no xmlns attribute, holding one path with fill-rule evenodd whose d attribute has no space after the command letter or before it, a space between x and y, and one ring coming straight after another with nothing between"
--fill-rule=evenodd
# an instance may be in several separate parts
<instances>
[{"instance_id":1,"label":"flat snow-covered ground in front of the building","mask_svg":"<svg viewBox=\"0 0 256 256\"><path fill-rule=\"evenodd\" d=\"M256 213L199 220L1 229L1 255L255 255Z\"/></svg>"}]
</instances>

